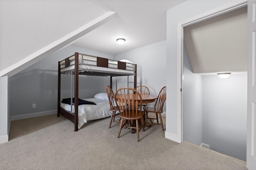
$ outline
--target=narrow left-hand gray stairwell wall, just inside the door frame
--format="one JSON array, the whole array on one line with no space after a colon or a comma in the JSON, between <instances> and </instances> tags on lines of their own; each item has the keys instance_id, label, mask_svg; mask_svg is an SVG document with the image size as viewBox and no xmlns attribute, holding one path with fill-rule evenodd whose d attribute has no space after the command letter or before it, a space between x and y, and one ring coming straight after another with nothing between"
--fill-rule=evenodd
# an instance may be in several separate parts
<instances>
[{"instance_id":1,"label":"narrow left-hand gray stairwell wall, just inside the door frame","mask_svg":"<svg viewBox=\"0 0 256 170\"><path fill-rule=\"evenodd\" d=\"M184 45L183 58L183 140L201 145L203 137L203 78L194 74Z\"/></svg>"}]
</instances>

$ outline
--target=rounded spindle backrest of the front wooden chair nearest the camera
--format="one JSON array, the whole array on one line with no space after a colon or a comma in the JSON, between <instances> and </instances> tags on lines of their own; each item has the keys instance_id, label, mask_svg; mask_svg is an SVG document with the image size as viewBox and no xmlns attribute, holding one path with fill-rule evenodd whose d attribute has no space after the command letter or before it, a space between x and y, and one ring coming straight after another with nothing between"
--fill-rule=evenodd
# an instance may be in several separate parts
<instances>
[{"instance_id":1,"label":"rounded spindle backrest of the front wooden chair nearest the camera","mask_svg":"<svg viewBox=\"0 0 256 170\"><path fill-rule=\"evenodd\" d=\"M133 88L120 88L115 94L116 106L120 111L121 117L138 117L142 110L142 98Z\"/></svg>"}]
</instances>

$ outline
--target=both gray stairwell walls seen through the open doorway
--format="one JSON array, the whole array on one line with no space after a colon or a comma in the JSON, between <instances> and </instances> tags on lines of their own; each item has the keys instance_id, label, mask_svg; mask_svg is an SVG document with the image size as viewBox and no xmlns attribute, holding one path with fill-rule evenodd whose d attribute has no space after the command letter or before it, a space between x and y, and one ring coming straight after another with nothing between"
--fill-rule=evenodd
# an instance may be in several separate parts
<instances>
[{"instance_id":1,"label":"both gray stairwell walls seen through the open doorway","mask_svg":"<svg viewBox=\"0 0 256 170\"><path fill-rule=\"evenodd\" d=\"M183 140L246 161L247 74L194 74L185 46L183 62Z\"/></svg>"}]
</instances>

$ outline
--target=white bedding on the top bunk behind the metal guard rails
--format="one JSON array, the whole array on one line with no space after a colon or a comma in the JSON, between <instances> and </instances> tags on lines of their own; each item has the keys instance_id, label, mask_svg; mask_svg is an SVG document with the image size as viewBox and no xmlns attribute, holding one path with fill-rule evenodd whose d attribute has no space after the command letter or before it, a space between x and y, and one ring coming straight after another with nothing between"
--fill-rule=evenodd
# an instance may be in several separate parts
<instances>
[{"instance_id":1,"label":"white bedding on the top bunk behind the metal guard rails","mask_svg":"<svg viewBox=\"0 0 256 170\"><path fill-rule=\"evenodd\" d=\"M79 61L79 68L83 68L83 69L109 71L109 72L134 73L133 64L129 64L129 63L126 63L126 70L121 70L121 69L117 69L116 61L108 61L108 68L98 67L95 57L89 57L89 56L83 55L83 58L82 58L82 55L79 55L78 61ZM61 71L74 69L75 67L74 62L75 62L74 60L70 61L70 66L67 68L61 68Z\"/></svg>"}]
</instances>

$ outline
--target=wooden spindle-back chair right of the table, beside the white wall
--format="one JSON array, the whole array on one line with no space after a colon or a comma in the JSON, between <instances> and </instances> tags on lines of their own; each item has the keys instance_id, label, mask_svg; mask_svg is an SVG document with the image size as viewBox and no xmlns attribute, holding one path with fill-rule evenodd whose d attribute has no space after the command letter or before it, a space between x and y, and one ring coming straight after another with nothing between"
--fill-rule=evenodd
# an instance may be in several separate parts
<instances>
[{"instance_id":1,"label":"wooden spindle-back chair right of the table, beside the white wall","mask_svg":"<svg viewBox=\"0 0 256 170\"><path fill-rule=\"evenodd\" d=\"M166 100L166 86L164 86L156 99L156 103L154 107L148 107L148 106L144 106L144 112L145 112L145 122L144 122L144 126L145 125L161 125L162 126L162 130L164 131L164 126L163 126L163 121L162 121L162 116L161 113L163 113L163 107L164 107L164 102ZM156 118L150 118L148 117L148 113L156 113ZM160 123L158 122L158 114L160 117ZM150 119L151 123L147 123L147 119ZM156 119L156 123L153 123L152 120Z\"/></svg>"}]
</instances>

